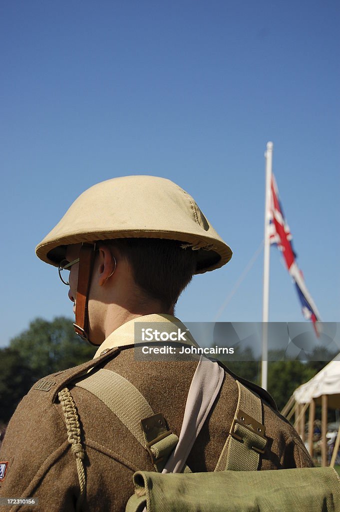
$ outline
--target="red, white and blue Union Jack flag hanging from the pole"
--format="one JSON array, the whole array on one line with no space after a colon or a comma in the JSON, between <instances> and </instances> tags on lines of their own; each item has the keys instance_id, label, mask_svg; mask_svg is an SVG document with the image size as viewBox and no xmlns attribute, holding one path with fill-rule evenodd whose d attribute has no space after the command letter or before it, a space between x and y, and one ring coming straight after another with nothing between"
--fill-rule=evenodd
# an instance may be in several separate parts
<instances>
[{"instance_id":1,"label":"red, white and blue Union Jack flag hanging from the pole","mask_svg":"<svg viewBox=\"0 0 340 512\"><path fill-rule=\"evenodd\" d=\"M270 244L276 244L282 251L287 270L291 275L298 292L302 306L302 313L306 320L311 320L313 322L315 332L318 334L315 322L320 321L320 314L312 297L310 296L309 291L307 290L303 274L296 262L297 255L292 247L292 236L283 214L283 209L279 199L279 191L274 175L271 175L270 208L267 212L267 218L269 222Z\"/></svg>"}]
</instances>

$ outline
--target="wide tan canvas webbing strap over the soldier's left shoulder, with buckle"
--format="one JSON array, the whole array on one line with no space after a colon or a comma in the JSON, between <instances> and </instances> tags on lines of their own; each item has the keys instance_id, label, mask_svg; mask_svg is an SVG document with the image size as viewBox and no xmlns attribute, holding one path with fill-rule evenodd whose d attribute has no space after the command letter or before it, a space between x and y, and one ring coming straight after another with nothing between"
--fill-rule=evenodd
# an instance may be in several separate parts
<instances>
[{"instance_id":1,"label":"wide tan canvas webbing strap over the soldier's left shoulder, with buckle","mask_svg":"<svg viewBox=\"0 0 340 512\"><path fill-rule=\"evenodd\" d=\"M129 380L102 368L75 385L105 403L146 448L156 470L162 471L178 437L167 428L163 415L153 412L142 393Z\"/></svg>"}]
</instances>

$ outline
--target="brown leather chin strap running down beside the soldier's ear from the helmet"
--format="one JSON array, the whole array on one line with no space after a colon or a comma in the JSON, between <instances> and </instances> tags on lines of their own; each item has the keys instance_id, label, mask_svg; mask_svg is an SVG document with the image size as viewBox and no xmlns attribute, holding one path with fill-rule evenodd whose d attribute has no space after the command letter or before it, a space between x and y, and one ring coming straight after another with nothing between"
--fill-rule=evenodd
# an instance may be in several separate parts
<instances>
[{"instance_id":1,"label":"brown leather chin strap running down beside the soldier's ear from the helmet","mask_svg":"<svg viewBox=\"0 0 340 512\"><path fill-rule=\"evenodd\" d=\"M82 244L79 253L78 287L76 297L76 321L73 324L76 334L91 345L88 339L88 292L91 284L96 244Z\"/></svg>"}]
</instances>

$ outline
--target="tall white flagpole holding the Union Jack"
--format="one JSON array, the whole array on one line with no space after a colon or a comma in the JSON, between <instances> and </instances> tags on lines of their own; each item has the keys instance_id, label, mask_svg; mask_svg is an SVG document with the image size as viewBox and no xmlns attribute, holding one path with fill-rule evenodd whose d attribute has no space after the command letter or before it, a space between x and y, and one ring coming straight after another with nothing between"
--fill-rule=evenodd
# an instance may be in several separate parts
<instances>
[{"instance_id":1,"label":"tall white flagpole holding the Union Jack","mask_svg":"<svg viewBox=\"0 0 340 512\"><path fill-rule=\"evenodd\" d=\"M271 167L273 162L273 142L267 142L266 159L266 184L264 207L264 261L263 261L263 310L262 310L262 365L261 386L267 389L268 375L268 305L269 305L269 222L268 211L270 207Z\"/></svg>"}]
</instances>

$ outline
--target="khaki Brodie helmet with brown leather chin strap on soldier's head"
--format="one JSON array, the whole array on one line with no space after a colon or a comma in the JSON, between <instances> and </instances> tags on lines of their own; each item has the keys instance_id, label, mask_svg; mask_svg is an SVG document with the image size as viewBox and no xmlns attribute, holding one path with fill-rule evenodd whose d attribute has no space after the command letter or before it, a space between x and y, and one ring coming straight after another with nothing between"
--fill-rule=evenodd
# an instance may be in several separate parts
<instances>
[{"instance_id":1,"label":"khaki Brodie helmet with brown leather chin strap on soldier's head","mask_svg":"<svg viewBox=\"0 0 340 512\"><path fill-rule=\"evenodd\" d=\"M67 245L82 243L75 329L85 339L95 242L117 238L183 242L184 249L197 251L196 274L222 267L232 257L193 198L168 179L124 176L90 187L36 247L40 260L58 266Z\"/></svg>"}]
</instances>

